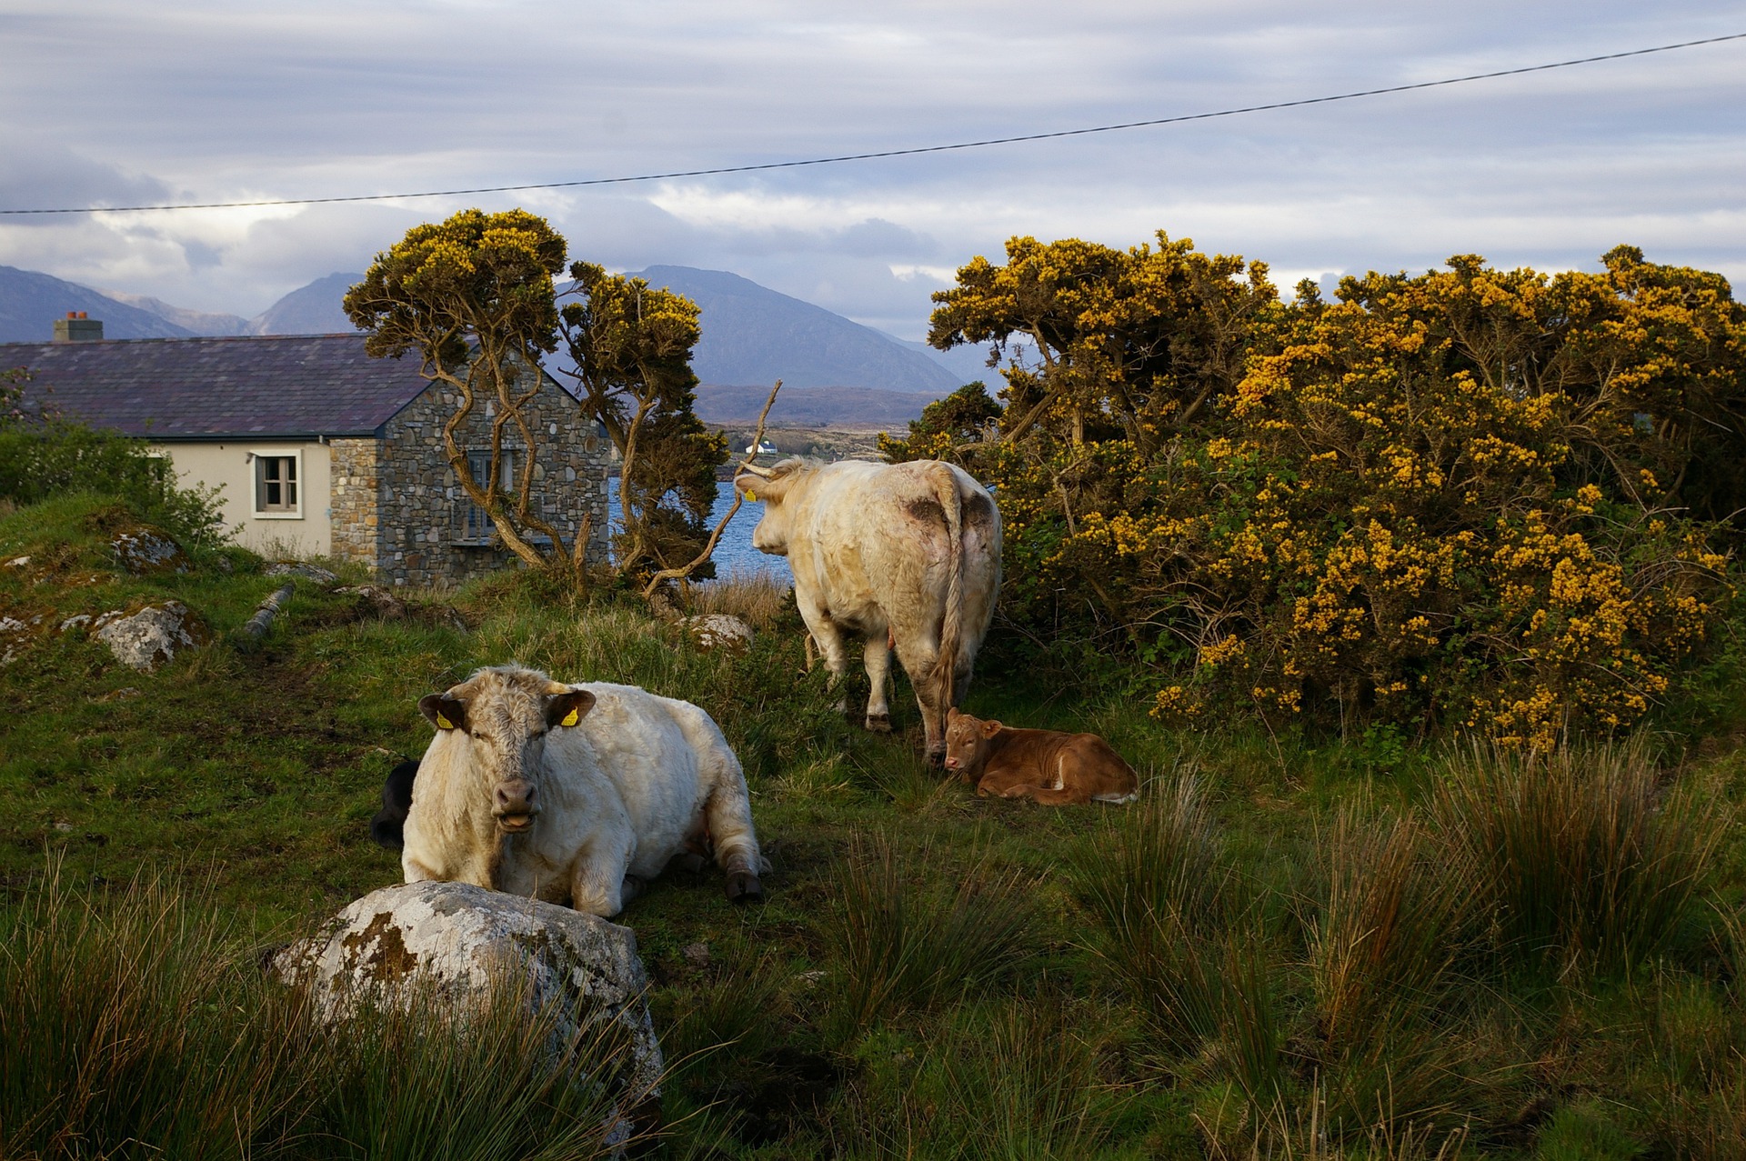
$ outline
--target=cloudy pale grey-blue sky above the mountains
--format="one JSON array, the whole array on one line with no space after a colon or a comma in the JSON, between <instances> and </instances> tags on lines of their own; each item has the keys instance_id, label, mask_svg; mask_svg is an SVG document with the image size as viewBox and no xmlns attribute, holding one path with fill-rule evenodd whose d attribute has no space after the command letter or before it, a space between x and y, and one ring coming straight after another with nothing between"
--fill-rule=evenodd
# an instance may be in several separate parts
<instances>
[{"instance_id":1,"label":"cloudy pale grey-blue sky above the mountains","mask_svg":"<svg viewBox=\"0 0 1746 1161\"><path fill-rule=\"evenodd\" d=\"M0 0L0 208L566 182L1049 133L1746 31L1746 3ZM904 339L1011 236L1287 290L1453 253L1746 279L1746 40L922 157L339 206L0 216L0 264L253 316L466 206Z\"/></svg>"}]
</instances>

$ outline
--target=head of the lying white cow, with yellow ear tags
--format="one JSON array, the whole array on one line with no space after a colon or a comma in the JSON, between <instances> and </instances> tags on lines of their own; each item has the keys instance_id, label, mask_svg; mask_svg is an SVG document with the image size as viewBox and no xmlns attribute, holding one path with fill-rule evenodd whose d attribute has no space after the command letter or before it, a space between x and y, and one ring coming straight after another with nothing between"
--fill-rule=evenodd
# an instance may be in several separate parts
<instances>
[{"instance_id":1,"label":"head of the lying white cow, with yellow ear tags","mask_svg":"<svg viewBox=\"0 0 1746 1161\"><path fill-rule=\"evenodd\" d=\"M454 770L489 794L491 814L506 835L527 831L540 814L540 779L546 735L578 725L594 695L519 665L482 669L447 693L419 700L433 726L466 742Z\"/></svg>"}]
</instances>

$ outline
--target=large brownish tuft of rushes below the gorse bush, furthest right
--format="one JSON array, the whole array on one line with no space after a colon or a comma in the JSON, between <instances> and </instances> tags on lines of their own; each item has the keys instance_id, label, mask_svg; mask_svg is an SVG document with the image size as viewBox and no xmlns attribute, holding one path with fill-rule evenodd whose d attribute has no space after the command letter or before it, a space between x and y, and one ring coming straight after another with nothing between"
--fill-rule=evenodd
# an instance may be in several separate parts
<instances>
[{"instance_id":1,"label":"large brownish tuft of rushes below the gorse bush, furthest right","mask_svg":"<svg viewBox=\"0 0 1746 1161\"><path fill-rule=\"evenodd\" d=\"M1446 763L1432 812L1474 861L1502 950L1556 974L1619 971L1687 918L1720 840L1699 796L1664 796L1643 742Z\"/></svg>"}]
</instances>

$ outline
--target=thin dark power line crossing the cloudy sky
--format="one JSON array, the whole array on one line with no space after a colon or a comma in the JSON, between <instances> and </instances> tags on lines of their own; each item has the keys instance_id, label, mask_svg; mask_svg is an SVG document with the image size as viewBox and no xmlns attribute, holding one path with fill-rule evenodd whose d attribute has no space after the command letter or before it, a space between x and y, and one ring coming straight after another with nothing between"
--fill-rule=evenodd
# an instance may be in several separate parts
<instances>
[{"instance_id":1,"label":"thin dark power line crossing the cloudy sky","mask_svg":"<svg viewBox=\"0 0 1746 1161\"><path fill-rule=\"evenodd\" d=\"M1238 117L1241 113L1264 113L1278 108L1303 108L1304 105L1327 105L1330 101L1351 101L1360 96L1383 96L1388 93L1413 93L1414 89L1440 89L1453 84L1474 80L1495 80L1498 77L1519 77L1523 73L1543 73L1552 68L1573 68L1577 65L1596 65L1599 61L1619 61L1629 56L1648 56L1652 52L1673 52L1674 49L1692 49L1704 44L1722 44L1725 40L1746 40L1746 31L1727 37L1706 37L1702 40L1681 40L1680 44L1659 44L1652 49L1631 49L1627 52L1606 52L1603 56L1580 56L1571 61L1552 61L1550 65L1526 65L1523 68L1500 68L1489 73L1468 73L1465 77L1444 77L1442 80L1419 80L1414 84L1386 86L1383 89L1360 89L1357 93L1334 93L1330 96L1306 96L1296 101L1273 101L1268 105L1245 105L1241 108L1220 108L1212 113L1182 113L1177 117L1154 117L1151 120L1124 120L1112 126L1090 126L1084 129L1056 129L1053 133L1023 133L1018 136L983 138L980 141L955 141L952 145L915 145L910 148L887 148L870 154L838 154L835 157L807 157L803 161L766 161L749 166L718 166L714 169L674 169L670 173L639 173L623 178L583 178L576 182L529 182L526 185L480 185L459 190L423 190L417 194L351 194L346 197L276 197L271 201L206 201L180 203L164 206L79 206L61 210L0 210L0 215L42 215L42 213L143 213L159 210L246 210L257 206L325 206L353 201L398 201L407 197L461 197L466 194L515 194L522 190L562 190L585 185L629 185L632 182L663 182L670 178L705 178L725 173L761 173L766 169L800 169L803 166L835 166L845 161L876 161L882 157L915 157L918 154L950 154L964 148L986 148L990 145L1016 145L1020 141L1049 141L1055 138L1086 136L1091 133L1119 133L1123 129L1147 129L1152 126L1175 126L1186 120L1212 120L1215 117Z\"/></svg>"}]
</instances>

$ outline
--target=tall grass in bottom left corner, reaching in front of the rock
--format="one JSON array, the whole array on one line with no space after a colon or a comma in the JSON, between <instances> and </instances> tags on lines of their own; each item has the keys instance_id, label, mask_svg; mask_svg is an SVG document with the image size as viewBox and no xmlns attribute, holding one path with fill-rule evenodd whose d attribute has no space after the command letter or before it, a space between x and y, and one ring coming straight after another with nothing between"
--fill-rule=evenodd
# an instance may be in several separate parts
<instances>
[{"instance_id":1,"label":"tall grass in bottom left corner, reaching in front of the rock","mask_svg":"<svg viewBox=\"0 0 1746 1161\"><path fill-rule=\"evenodd\" d=\"M461 1025L435 995L325 1025L204 896L58 868L0 936L5 1158L580 1161L632 1135L618 1027L559 1035L513 988Z\"/></svg>"}]
</instances>

